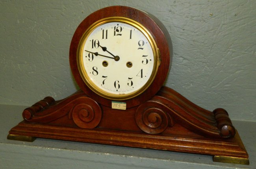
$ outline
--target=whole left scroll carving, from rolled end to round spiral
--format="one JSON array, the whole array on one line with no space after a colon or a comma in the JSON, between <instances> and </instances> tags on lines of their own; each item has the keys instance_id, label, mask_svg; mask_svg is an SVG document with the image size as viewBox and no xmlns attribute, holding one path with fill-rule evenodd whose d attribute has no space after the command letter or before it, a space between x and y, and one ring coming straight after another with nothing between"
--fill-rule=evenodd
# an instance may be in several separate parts
<instances>
[{"instance_id":1,"label":"whole left scroll carving, from rolled end to round spiral","mask_svg":"<svg viewBox=\"0 0 256 169\"><path fill-rule=\"evenodd\" d=\"M82 91L78 91L59 101L46 97L22 113L24 120L39 123L52 122L65 115L68 115L78 127L92 129L99 124L102 110L97 102Z\"/></svg>"}]
</instances>

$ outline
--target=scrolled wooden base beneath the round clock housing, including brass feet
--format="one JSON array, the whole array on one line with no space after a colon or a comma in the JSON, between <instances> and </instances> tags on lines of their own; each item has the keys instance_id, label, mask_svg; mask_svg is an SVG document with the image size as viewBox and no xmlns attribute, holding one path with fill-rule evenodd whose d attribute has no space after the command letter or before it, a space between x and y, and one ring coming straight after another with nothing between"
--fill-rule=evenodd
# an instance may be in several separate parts
<instances>
[{"instance_id":1,"label":"scrolled wooden base beneath the round clock housing, including brass feet","mask_svg":"<svg viewBox=\"0 0 256 169\"><path fill-rule=\"evenodd\" d=\"M26 108L8 139L50 138L208 154L213 161L249 164L247 151L224 109L207 111L173 89L124 110L111 109L83 91L55 101L46 97Z\"/></svg>"}]
</instances>

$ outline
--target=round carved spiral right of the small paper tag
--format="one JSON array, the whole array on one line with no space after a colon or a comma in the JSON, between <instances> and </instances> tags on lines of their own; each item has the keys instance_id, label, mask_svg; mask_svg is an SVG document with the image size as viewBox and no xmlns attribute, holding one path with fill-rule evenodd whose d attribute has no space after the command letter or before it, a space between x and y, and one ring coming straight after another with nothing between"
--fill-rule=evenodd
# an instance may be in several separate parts
<instances>
[{"instance_id":1,"label":"round carved spiral right of the small paper tag","mask_svg":"<svg viewBox=\"0 0 256 169\"><path fill-rule=\"evenodd\" d=\"M150 102L138 107L135 113L135 120L138 127L148 134L162 133L169 124L172 125L171 116L160 107L152 107L152 104L150 106Z\"/></svg>"}]
</instances>

